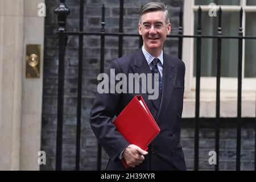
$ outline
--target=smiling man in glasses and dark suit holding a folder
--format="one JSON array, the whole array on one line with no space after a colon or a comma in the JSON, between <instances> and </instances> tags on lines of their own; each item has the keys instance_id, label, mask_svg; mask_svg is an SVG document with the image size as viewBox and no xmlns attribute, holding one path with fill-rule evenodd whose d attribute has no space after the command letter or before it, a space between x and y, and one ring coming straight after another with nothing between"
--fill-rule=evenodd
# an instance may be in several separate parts
<instances>
[{"instance_id":1,"label":"smiling man in glasses and dark suit holding a folder","mask_svg":"<svg viewBox=\"0 0 256 182\"><path fill-rule=\"evenodd\" d=\"M138 28L143 38L143 47L114 60L109 70L115 69L115 73L125 75L159 75L158 98L148 100L148 92L141 92L140 95L161 131L148 146L148 150L144 151L127 142L115 129L112 123L114 116L119 115L132 98L138 95L135 93L98 93L90 113L90 124L110 156L108 170L185 170L180 144L185 65L176 57L163 53L164 41L171 32L166 5L162 2L151 2L143 6ZM122 158L130 168L123 167Z\"/></svg>"}]
</instances>

